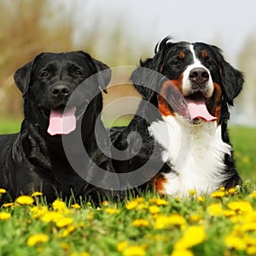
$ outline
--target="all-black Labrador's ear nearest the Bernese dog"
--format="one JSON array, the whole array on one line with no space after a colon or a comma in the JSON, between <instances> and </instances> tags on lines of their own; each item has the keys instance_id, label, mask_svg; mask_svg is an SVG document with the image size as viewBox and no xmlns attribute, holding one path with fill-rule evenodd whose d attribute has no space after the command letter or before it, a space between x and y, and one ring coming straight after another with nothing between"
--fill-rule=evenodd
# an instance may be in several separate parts
<instances>
[{"instance_id":1,"label":"all-black Labrador's ear nearest the Bernese dog","mask_svg":"<svg viewBox=\"0 0 256 256\"><path fill-rule=\"evenodd\" d=\"M105 93L108 93L106 88L111 79L111 69L102 61L98 61L92 58L88 53L82 50L80 50L79 53L84 55L86 59L89 60L88 64L90 65L90 68L94 73L100 72L99 74L97 74L97 82L100 84L102 90Z\"/></svg>"}]
</instances>

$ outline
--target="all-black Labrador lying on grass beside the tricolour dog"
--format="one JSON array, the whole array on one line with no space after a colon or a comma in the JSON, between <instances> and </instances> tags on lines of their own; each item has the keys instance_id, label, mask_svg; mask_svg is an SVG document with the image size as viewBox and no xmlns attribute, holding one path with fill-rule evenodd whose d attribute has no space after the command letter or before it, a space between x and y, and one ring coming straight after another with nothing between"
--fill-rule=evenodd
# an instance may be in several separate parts
<instances>
[{"instance_id":1,"label":"all-black Labrador lying on grass beside the tricolour dog","mask_svg":"<svg viewBox=\"0 0 256 256\"><path fill-rule=\"evenodd\" d=\"M67 102L79 84L103 70L104 73L83 85L82 93L80 90L68 107ZM97 182L98 179L99 184L104 184L105 177L97 177L95 166L107 170L107 174L113 171L108 157L96 143L96 137L102 140L105 137L101 121L99 134L94 130L96 118L102 111L100 87L105 90L110 77L107 65L83 51L42 53L15 73L15 83L24 97L25 119L20 133L0 137L0 187L8 191L2 203L38 190L48 201L53 201L56 193L62 197L74 195L78 198L81 195L97 199L109 192L96 188L84 178L90 176L90 181L96 179ZM82 103L78 106L77 102ZM62 125L65 122L67 125ZM79 126L81 130L77 128ZM79 170L84 178L70 165L63 138L70 143L68 150L75 161L84 157L78 147L79 138L82 139L90 158L83 162L85 171Z\"/></svg>"}]
</instances>

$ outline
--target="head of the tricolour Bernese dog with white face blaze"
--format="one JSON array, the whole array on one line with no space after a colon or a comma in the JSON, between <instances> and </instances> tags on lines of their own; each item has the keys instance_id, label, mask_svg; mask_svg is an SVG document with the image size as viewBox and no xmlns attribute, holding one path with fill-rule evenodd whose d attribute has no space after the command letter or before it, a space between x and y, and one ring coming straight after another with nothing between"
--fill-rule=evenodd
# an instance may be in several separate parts
<instances>
[{"instance_id":1,"label":"head of the tricolour Bernese dog with white face blaze","mask_svg":"<svg viewBox=\"0 0 256 256\"><path fill-rule=\"evenodd\" d=\"M138 67L131 75L136 89L163 115L178 113L187 119L189 109L194 124L221 122L225 113L224 119L228 118L228 106L233 105L244 82L242 73L224 60L216 46L172 43L170 39L156 45L153 58L141 61L141 67L148 71Z\"/></svg>"}]
</instances>

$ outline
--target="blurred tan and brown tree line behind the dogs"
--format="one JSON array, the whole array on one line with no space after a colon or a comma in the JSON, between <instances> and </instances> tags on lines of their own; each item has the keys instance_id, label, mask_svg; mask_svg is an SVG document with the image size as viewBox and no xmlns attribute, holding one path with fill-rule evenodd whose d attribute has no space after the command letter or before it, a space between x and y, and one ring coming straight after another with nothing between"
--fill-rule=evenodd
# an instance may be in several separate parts
<instances>
[{"instance_id":1,"label":"blurred tan and brown tree line behind the dogs","mask_svg":"<svg viewBox=\"0 0 256 256\"><path fill-rule=\"evenodd\" d=\"M122 18L114 17L114 26L103 20L99 12L90 26L79 30L88 17L77 17L80 5L49 0L0 0L0 117L22 118L22 96L15 86L13 75L41 52L62 52L83 49L110 67L137 65L139 58L150 56L153 49L138 47L129 38ZM87 8L87 1L81 2ZM81 13L81 12L80 12ZM106 30L108 27L108 30ZM105 29L105 30L104 30ZM238 56L238 68L246 76L245 90L236 100L233 120L256 125L256 37L247 38ZM107 101L129 96L134 90L110 89ZM123 106L124 107L124 106ZM134 107L136 108L136 106ZM117 109L117 108L115 108ZM121 109L119 109L121 111Z\"/></svg>"}]
</instances>

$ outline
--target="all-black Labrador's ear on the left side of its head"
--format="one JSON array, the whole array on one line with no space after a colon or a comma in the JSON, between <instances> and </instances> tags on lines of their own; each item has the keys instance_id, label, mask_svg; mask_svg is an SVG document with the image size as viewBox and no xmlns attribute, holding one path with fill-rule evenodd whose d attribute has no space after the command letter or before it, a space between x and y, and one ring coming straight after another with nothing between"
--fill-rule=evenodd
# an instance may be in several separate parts
<instances>
[{"instance_id":1,"label":"all-black Labrador's ear on the left side of its head","mask_svg":"<svg viewBox=\"0 0 256 256\"><path fill-rule=\"evenodd\" d=\"M15 83L17 84L18 88L21 90L23 96L26 95L26 91L28 90L31 75L32 75L32 67L33 61L27 63L25 66L20 67L15 72Z\"/></svg>"}]
</instances>

